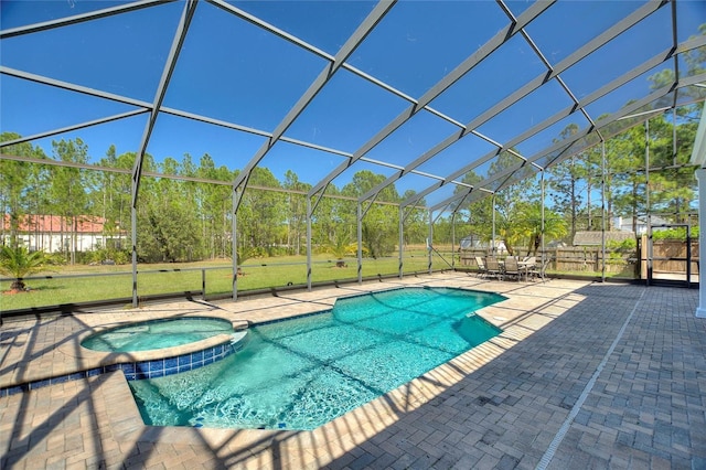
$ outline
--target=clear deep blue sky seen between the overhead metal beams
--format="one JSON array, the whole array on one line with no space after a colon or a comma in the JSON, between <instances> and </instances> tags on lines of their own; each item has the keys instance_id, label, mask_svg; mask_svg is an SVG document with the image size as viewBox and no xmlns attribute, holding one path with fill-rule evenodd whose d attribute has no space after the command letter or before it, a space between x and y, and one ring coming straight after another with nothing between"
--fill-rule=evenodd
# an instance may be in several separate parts
<instances>
[{"instance_id":1,"label":"clear deep blue sky seen between the overhead metal beams","mask_svg":"<svg viewBox=\"0 0 706 470\"><path fill-rule=\"evenodd\" d=\"M2 0L1 28L7 30L119 3ZM233 3L329 55L338 52L374 7L366 1ZM526 31L546 58L556 65L642 3L559 1ZM509 2L515 15L528 4L525 1ZM703 1L681 0L677 8L680 41L684 41L697 33L699 23L706 22L706 7ZM0 43L0 62L7 67L151 103L182 9L183 3L176 1L4 39ZM577 98L589 95L670 47L671 21L670 7L660 9L623 36L567 70L561 77ZM413 98L419 98L507 22L505 13L493 1L400 1L352 54L349 64ZM325 65L324 58L201 1L164 106L270 132ZM657 67L661 68L664 67ZM468 124L545 71L527 42L516 35L442 93L431 106L459 122ZM129 105L81 96L8 75L0 75L0 130L24 136L135 109ZM607 96L587 109L596 118L648 92L649 83L641 77L619 94ZM495 141L506 142L571 104L559 84L552 81L482 124L478 130ZM408 106L404 98L342 70L286 136L353 153ZM141 115L34 143L51 154L52 139L81 137L89 146L92 161L97 162L110 145L117 147L118 153L137 150L145 122L146 116ZM532 156L549 146L569 124L585 127L587 122L576 114L517 145L517 149ZM422 111L367 157L405 165L456 131L456 126ZM197 161L207 152L217 165L237 169L250 160L263 142L264 138L259 136L162 114L148 152L158 161L165 157L180 160L183 153L190 153ZM419 170L446 177L492 149L486 141L468 136ZM313 184L342 161L335 154L279 142L261 165L268 167L280 180L288 169L292 169L300 180ZM334 183L342 186L354 171L361 169L372 169L386 175L393 173L384 167L361 163ZM421 191L432 183L434 180L425 177L408 175L397 186L402 193L406 189ZM446 191L448 193L452 189ZM439 194L442 195L443 191Z\"/></svg>"}]
</instances>

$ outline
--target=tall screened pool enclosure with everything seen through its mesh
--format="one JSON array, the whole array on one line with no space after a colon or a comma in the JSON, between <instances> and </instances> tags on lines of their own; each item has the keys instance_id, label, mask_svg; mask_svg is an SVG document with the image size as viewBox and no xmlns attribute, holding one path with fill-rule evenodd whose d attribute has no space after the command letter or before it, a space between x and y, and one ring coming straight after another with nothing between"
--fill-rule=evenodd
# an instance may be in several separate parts
<instances>
[{"instance_id":1,"label":"tall screened pool enclosure with everything seen through its mesh","mask_svg":"<svg viewBox=\"0 0 706 470\"><path fill-rule=\"evenodd\" d=\"M697 281L703 1L1 8L3 311L477 256Z\"/></svg>"}]
</instances>

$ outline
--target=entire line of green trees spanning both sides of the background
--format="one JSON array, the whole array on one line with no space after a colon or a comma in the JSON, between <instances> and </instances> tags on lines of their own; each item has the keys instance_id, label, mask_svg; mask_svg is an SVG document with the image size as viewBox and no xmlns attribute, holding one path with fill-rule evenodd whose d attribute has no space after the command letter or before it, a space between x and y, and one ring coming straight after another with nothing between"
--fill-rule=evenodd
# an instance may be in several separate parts
<instances>
[{"instance_id":1,"label":"entire line of green trees spanning both sides of the background","mask_svg":"<svg viewBox=\"0 0 706 470\"><path fill-rule=\"evenodd\" d=\"M488 243L494 234L495 241L502 241L511 254L536 253L543 241L570 244L577 231L602 228L601 191L605 191L607 229L612 228L613 216L622 215L632 221L634 232L639 218L648 211L662 214L670 223L685 222L694 211L692 203L696 194L694 169L686 163L698 125L699 106L682 108L680 113L677 122L672 115L653 117L646 126L634 126L608 139L605 150L602 146L595 146L554 164L544 172L544 201L538 173L531 165L522 167L514 172L512 184L494 196L453 206L460 214L467 214L454 217L454 228L450 216L437 218L434 242L449 244L456 236L458 243L460 237L473 235ZM568 126L557 141L578 130L575 125ZM11 132L0 136L2 141L19 138ZM29 142L6 147L3 152L92 164L88 147L79 138L53 141L51 157ZM106 258L127 263L131 231L130 172L135 158L135 152L117 154L111 146L95 162L97 167L122 172L0 160L0 202L9 220L9 233L3 235L9 235L9 244L18 244L18 229L24 215L52 214L61 216L65 225L61 232L68 238L62 243L66 263ZM512 152L501 152L485 178L516 163ZM142 177L137 210L140 261L231 257L233 194L229 183L238 170L216 167L207 153L197 162L190 154L184 154L181 161L170 157L162 162L146 154L143 169L147 173L174 178ZM340 189L330 184L312 214L314 249L328 250L339 258L354 255L356 200L385 179L383 174L363 170ZM474 171L462 178L471 185L482 180ZM306 194L311 188L292 170L279 181L267 168L254 169L237 214L236 249L240 261L255 256L306 254ZM463 188L458 186L459 191ZM399 211L396 203L413 195L414 191L399 194L394 184L381 192L363 218L362 242L366 256L387 256L397 249ZM424 200L419 204L424 205ZM111 241L109 246L96 246L90 253L77 252L77 222L86 216L105 221L105 235ZM427 236L427 211L415 209L405 218L404 243L424 244Z\"/></svg>"}]
</instances>

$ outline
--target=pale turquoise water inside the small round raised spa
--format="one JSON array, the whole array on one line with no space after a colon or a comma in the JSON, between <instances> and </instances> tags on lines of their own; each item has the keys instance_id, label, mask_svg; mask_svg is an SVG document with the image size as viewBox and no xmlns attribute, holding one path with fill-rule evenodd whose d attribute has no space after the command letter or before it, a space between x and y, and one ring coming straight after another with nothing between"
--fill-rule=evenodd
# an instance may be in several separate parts
<instances>
[{"instance_id":1,"label":"pale turquoise water inside the small round raised spa","mask_svg":"<svg viewBox=\"0 0 706 470\"><path fill-rule=\"evenodd\" d=\"M205 317L150 320L93 334L81 345L94 351L131 352L174 348L233 333L227 320Z\"/></svg>"}]
</instances>

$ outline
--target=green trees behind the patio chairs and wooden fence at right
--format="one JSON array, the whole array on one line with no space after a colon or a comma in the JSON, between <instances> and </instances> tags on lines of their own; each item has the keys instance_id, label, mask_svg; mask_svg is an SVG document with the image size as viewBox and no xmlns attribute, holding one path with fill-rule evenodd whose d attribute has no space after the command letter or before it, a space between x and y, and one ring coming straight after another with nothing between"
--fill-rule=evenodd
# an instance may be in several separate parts
<instances>
[{"instance_id":1,"label":"green trees behind the patio chairs and wooden fence at right","mask_svg":"<svg viewBox=\"0 0 706 470\"><path fill-rule=\"evenodd\" d=\"M463 205L466 231L481 239L491 239L494 232L511 254L520 247L531 254L539 248L543 236L545 242L570 245L578 231L616 229L617 216L630 220L634 233L646 214L659 215L665 223L691 222L697 183L688 161L700 106L681 113L677 124L671 115L660 115L613 136L605 146L590 147L552 165L543 175L544 200L541 173L525 164L513 175L513 184L493 197ZM560 139L578 130L570 125ZM501 174L517 161L512 152L501 152L486 178ZM468 184L482 180L473 171L462 178ZM460 191L464 190L459 186L457 193ZM493 217L494 225L489 223Z\"/></svg>"}]
</instances>

